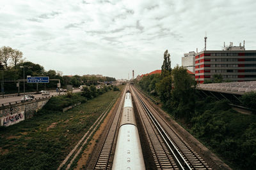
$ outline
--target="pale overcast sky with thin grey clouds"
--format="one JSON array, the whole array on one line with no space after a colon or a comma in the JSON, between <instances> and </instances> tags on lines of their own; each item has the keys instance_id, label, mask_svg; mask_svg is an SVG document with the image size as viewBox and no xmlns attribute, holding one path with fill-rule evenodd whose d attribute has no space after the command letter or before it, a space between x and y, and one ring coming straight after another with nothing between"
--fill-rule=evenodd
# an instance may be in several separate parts
<instances>
[{"instance_id":1,"label":"pale overcast sky with thin grey clouds","mask_svg":"<svg viewBox=\"0 0 256 170\"><path fill-rule=\"evenodd\" d=\"M172 67L183 53L246 40L256 50L255 0L2 0L0 46L63 74L127 78Z\"/></svg>"}]
</instances>

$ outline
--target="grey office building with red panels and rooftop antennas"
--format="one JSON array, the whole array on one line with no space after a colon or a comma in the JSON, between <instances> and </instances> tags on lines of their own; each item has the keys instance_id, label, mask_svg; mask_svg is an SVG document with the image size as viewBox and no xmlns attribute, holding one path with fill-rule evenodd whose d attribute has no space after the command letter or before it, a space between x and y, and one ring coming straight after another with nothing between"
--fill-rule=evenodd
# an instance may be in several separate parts
<instances>
[{"instance_id":1,"label":"grey office building with red panels and rooftop antennas","mask_svg":"<svg viewBox=\"0 0 256 170\"><path fill-rule=\"evenodd\" d=\"M204 83L214 74L221 74L228 81L255 81L256 50L245 50L240 45L196 53L195 80Z\"/></svg>"}]
</instances>

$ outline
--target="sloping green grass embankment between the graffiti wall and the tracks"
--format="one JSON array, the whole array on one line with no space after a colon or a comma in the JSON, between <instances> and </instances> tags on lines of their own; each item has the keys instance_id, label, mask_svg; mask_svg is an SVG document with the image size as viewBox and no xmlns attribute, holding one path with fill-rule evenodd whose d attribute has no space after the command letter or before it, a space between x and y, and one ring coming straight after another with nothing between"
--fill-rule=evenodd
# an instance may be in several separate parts
<instances>
[{"instance_id":1,"label":"sloping green grass embankment between the graffiti wall and the tracks","mask_svg":"<svg viewBox=\"0 0 256 170\"><path fill-rule=\"evenodd\" d=\"M118 95L113 90L65 113L36 117L0 129L0 169L57 169L99 115Z\"/></svg>"}]
</instances>

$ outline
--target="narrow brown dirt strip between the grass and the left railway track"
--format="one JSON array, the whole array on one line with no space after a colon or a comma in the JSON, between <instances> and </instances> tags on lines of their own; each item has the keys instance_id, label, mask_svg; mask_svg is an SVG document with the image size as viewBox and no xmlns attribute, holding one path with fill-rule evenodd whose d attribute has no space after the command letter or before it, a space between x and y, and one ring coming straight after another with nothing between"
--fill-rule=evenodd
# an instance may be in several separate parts
<instances>
[{"instance_id":1,"label":"narrow brown dirt strip between the grass and the left railway track","mask_svg":"<svg viewBox=\"0 0 256 170\"><path fill-rule=\"evenodd\" d=\"M113 114L113 110L116 106L116 103L114 104L113 108L109 111L107 117L104 119L102 124L100 124L99 129L93 135L92 140L90 141L90 144L87 146L87 148L82 153L81 158L77 162L77 167L75 167L74 169L77 170L77 169L85 168L86 162L89 159L89 155L92 155L91 153L93 152L93 148L95 148L95 145L97 145L98 139L100 138L100 136L101 136L102 132L104 131L104 129L106 128L106 126L108 125L109 118Z\"/></svg>"}]
</instances>

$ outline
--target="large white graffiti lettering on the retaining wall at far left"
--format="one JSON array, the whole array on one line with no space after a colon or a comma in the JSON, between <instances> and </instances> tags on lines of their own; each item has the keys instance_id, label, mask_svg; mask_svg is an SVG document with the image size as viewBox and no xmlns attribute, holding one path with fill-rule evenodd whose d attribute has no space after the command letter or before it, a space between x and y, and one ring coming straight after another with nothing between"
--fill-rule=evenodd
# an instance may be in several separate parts
<instances>
[{"instance_id":1,"label":"large white graffiti lettering on the retaining wall at far left","mask_svg":"<svg viewBox=\"0 0 256 170\"><path fill-rule=\"evenodd\" d=\"M9 115L7 117L1 118L1 125L2 126L9 126L13 124L17 124L18 122L25 120L24 118L24 111L20 113L15 113L13 115Z\"/></svg>"}]
</instances>

